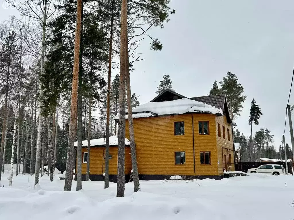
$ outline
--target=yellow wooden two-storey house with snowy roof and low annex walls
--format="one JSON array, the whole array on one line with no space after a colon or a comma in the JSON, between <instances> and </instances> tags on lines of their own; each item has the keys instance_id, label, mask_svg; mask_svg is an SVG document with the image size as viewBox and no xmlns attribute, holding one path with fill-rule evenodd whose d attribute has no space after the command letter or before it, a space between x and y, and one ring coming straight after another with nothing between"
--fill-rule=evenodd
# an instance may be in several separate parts
<instances>
[{"instance_id":1,"label":"yellow wooden two-storey house with snowy roof and low annex walls","mask_svg":"<svg viewBox=\"0 0 294 220\"><path fill-rule=\"evenodd\" d=\"M220 179L224 170L234 171L232 129L235 124L225 95L187 98L165 89L150 102L133 108L133 122L141 180L171 175ZM126 138L129 138L127 111ZM103 174L103 147L97 149L90 153L91 175ZM117 147L111 152L112 156L117 153ZM126 175L131 170L129 152L126 147L125 161L130 166ZM116 175L117 167L112 169L111 173ZM82 174L86 174L85 168Z\"/></svg>"}]
</instances>

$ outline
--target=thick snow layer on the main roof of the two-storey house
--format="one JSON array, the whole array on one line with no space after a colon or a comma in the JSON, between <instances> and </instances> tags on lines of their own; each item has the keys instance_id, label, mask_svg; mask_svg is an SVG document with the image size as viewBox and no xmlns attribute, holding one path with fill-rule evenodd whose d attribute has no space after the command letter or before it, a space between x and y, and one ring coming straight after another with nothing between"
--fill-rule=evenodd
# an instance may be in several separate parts
<instances>
[{"instance_id":1,"label":"thick snow layer on the main roof of the two-storey house","mask_svg":"<svg viewBox=\"0 0 294 220\"><path fill-rule=\"evenodd\" d=\"M177 99L173 101L148 102L133 108L133 118L146 118L160 115L185 114L189 112L220 114L222 110L211 105L191 99ZM126 110L126 113L128 110ZM126 115L126 119L128 115ZM118 119L118 115L114 119Z\"/></svg>"}]
</instances>

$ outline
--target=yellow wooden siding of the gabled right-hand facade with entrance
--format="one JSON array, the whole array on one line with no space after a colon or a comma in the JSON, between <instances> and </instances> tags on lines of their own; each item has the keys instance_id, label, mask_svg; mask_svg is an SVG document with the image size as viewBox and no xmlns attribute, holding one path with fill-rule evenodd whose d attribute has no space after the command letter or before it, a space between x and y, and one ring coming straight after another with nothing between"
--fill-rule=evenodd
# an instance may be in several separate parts
<instances>
[{"instance_id":1,"label":"yellow wooden siding of the gabled right-hand facade with entrance","mask_svg":"<svg viewBox=\"0 0 294 220\"><path fill-rule=\"evenodd\" d=\"M218 136L218 123L220 123L220 131L221 131L220 137ZM223 126L225 126L225 138L223 138ZM225 165L223 164L225 161L224 155L226 155L227 163L228 163L229 162L228 154L231 154L231 161L232 161L232 164L229 167L230 171L235 171L234 152L233 152L233 134L232 134L232 129L230 127L230 123L228 123L225 115L221 117L216 117L215 127L216 127L217 154L218 154L218 161L220 162L218 166L218 174L223 174L223 168L225 167ZM230 129L230 141L228 140L228 129ZM229 150L226 150L224 148Z\"/></svg>"}]
</instances>

